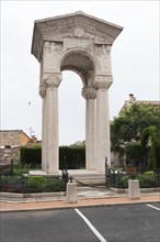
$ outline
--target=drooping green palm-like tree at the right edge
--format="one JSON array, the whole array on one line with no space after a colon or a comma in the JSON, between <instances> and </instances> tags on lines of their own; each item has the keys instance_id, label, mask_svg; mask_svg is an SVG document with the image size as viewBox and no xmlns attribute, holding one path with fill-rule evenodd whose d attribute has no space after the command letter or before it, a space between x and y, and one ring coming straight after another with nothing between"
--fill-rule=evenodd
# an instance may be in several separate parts
<instances>
[{"instance_id":1,"label":"drooping green palm-like tree at the right edge","mask_svg":"<svg viewBox=\"0 0 160 242\"><path fill-rule=\"evenodd\" d=\"M142 130L140 144L145 154L150 146L153 154L153 170L160 168L160 132L157 127L151 125Z\"/></svg>"}]
</instances>

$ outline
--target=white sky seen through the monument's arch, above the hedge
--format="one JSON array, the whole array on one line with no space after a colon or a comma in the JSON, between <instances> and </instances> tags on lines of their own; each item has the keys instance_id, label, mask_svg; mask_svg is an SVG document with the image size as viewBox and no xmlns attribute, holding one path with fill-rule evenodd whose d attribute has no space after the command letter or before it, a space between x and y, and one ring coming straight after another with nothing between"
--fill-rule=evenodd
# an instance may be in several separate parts
<instances>
[{"instance_id":1,"label":"white sky seen through the monument's arch, above the hedge","mask_svg":"<svg viewBox=\"0 0 160 242\"><path fill-rule=\"evenodd\" d=\"M59 91L59 145L85 140L85 102L81 96L82 80L73 72L62 72Z\"/></svg>"}]
</instances>

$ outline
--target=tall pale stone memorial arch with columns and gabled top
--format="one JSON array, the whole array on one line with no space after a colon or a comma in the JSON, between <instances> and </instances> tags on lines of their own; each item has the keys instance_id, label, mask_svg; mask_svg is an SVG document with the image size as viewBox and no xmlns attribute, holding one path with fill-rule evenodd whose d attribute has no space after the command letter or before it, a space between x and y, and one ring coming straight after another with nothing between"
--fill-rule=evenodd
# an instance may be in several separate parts
<instances>
[{"instance_id":1,"label":"tall pale stone memorial arch with columns and gabled top","mask_svg":"<svg viewBox=\"0 0 160 242\"><path fill-rule=\"evenodd\" d=\"M122 30L81 11L35 21L32 54L41 64L43 172L59 170L58 87L62 70L76 72L82 80L87 170L104 173L106 158L110 165L111 47Z\"/></svg>"}]
</instances>

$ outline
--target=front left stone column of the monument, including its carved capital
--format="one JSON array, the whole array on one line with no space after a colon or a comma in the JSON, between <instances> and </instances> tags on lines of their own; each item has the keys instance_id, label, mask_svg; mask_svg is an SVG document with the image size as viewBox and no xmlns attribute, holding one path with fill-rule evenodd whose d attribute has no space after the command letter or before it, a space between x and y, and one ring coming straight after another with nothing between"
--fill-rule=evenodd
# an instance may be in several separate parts
<instances>
[{"instance_id":1,"label":"front left stone column of the monument, including its carved capital","mask_svg":"<svg viewBox=\"0 0 160 242\"><path fill-rule=\"evenodd\" d=\"M58 86L61 74L44 74L46 100L43 116L43 167L48 174L59 169L59 133L58 133ZM46 156L46 157L45 157Z\"/></svg>"}]
</instances>

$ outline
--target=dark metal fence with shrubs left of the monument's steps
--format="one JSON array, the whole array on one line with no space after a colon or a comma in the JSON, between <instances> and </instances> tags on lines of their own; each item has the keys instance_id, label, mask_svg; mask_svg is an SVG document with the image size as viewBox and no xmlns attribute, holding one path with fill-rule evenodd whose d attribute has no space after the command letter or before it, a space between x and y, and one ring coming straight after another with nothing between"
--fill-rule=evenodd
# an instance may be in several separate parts
<instances>
[{"instance_id":1,"label":"dark metal fence with shrubs left of the monument's steps","mask_svg":"<svg viewBox=\"0 0 160 242\"><path fill-rule=\"evenodd\" d=\"M30 176L27 172L28 167L13 165L13 160L8 165L1 165L0 191L21 194L65 191L68 180L72 182L67 169L57 176ZM26 175L22 175L24 173Z\"/></svg>"}]
</instances>

